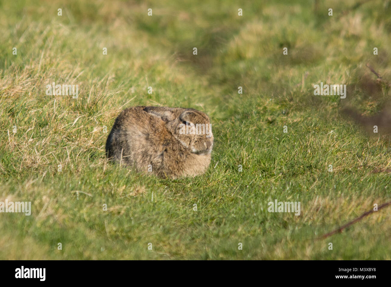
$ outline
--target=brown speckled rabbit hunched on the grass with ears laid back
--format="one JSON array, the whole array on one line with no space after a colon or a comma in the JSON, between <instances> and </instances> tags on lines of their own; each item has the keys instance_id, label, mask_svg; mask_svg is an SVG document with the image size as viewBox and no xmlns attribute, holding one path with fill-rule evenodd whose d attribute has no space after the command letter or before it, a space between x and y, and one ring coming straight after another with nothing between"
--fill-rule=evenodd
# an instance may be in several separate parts
<instances>
[{"instance_id":1,"label":"brown speckled rabbit hunched on the grass with ears laid back","mask_svg":"<svg viewBox=\"0 0 391 287\"><path fill-rule=\"evenodd\" d=\"M211 126L209 117L195 109L130 107L115 120L106 155L160 178L194 177L210 164Z\"/></svg>"}]
</instances>

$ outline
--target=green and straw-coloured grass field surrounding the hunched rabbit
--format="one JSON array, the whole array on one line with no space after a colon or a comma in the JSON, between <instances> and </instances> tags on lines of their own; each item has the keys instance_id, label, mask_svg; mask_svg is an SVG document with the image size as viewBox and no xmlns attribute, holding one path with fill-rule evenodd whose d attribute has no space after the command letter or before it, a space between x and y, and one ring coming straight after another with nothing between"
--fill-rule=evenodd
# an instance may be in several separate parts
<instances>
[{"instance_id":1,"label":"green and straw-coloured grass field surrounding the hunched rabbit","mask_svg":"<svg viewBox=\"0 0 391 287\"><path fill-rule=\"evenodd\" d=\"M391 259L389 207L316 240L391 199L386 124L369 135L341 112L390 100L389 1L90 2L0 2L0 201L32 203L0 214L0 259ZM79 98L47 96L51 82ZM314 96L320 82L346 99ZM206 174L107 163L115 117L135 105L206 112ZM269 213L275 199L300 216Z\"/></svg>"}]
</instances>

